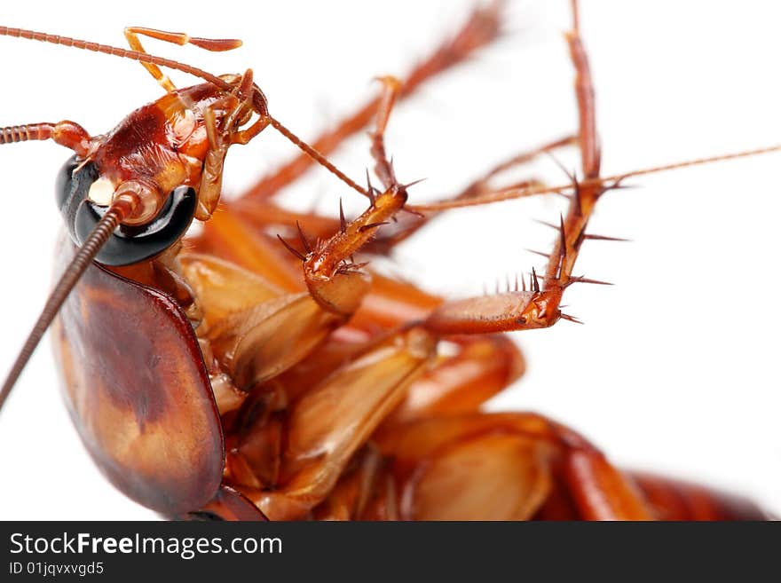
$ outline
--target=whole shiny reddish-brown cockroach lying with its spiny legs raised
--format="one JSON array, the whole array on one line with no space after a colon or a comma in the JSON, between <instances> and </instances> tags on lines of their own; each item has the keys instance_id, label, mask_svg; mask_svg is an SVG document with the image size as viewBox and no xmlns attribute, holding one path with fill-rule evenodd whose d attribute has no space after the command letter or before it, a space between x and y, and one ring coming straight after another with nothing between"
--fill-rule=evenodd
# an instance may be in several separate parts
<instances>
[{"instance_id":1,"label":"whole shiny reddish-brown cockroach lying with its spiny legs raised","mask_svg":"<svg viewBox=\"0 0 781 583\"><path fill-rule=\"evenodd\" d=\"M547 417L481 412L487 398L524 372L504 332L577 321L560 310L564 290L603 283L575 269L580 247L615 238L587 229L596 201L646 173L601 171L576 4L573 12L567 46L579 130L497 169L544 154L557 162L561 150L577 146L578 171L563 167L563 183L553 186L497 186L491 171L428 205L408 201L412 181L397 178L385 139L391 112L418 83L493 43L498 5L477 9L413 74L382 77L378 98L312 146L272 116L250 71L210 75L152 57L138 39L212 50L237 43L129 29L133 50L110 51L150 69L162 98L102 136L73 122L2 130L4 142L53 139L75 151L57 185L67 229L58 251L62 279L2 398L62 300L52 336L75 426L106 477L163 516L764 516L745 500L620 471ZM194 73L202 83L176 89L156 66ZM326 156L364 128L374 178L359 185ZM228 148L273 129L302 156L217 209ZM315 162L360 193L363 208L345 213L340 203L329 216L275 204L274 196ZM425 235L439 210L532 194L563 194L566 209L546 221L556 242L542 251L545 265L505 288L443 299L367 264L412 233ZM205 221L202 232L183 240L193 218Z\"/></svg>"}]
</instances>

